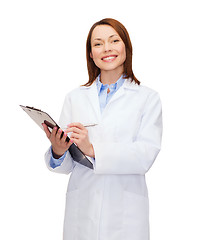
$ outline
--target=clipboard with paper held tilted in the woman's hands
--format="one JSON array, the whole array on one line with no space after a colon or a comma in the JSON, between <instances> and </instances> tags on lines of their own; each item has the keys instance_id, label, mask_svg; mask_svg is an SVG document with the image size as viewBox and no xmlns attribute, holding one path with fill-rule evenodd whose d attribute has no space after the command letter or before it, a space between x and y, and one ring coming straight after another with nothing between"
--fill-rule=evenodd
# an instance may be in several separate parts
<instances>
[{"instance_id":1,"label":"clipboard with paper held tilted in the woman's hands","mask_svg":"<svg viewBox=\"0 0 201 240\"><path fill-rule=\"evenodd\" d=\"M32 120L44 131L42 123L45 123L50 132L54 127L59 129L58 124L50 117L50 115L46 112L41 111L40 109L29 107L29 106L22 106L20 107L32 118ZM64 132L62 132L61 137L63 136ZM69 142L70 138L67 136L66 141ZM86 157L86 155L73 143L69 147L68 151L71 154L71 157L74 161L93 169L92 162Z\"/></svg>"}]
</instances>

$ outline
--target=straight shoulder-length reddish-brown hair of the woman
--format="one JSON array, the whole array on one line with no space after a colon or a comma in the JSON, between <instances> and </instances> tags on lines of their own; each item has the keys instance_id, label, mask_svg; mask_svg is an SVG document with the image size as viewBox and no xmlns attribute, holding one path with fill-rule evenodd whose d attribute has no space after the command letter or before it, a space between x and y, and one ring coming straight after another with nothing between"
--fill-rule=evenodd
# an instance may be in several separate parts
<instances>
[{"instance_id":1,"label":"straight shoulder-length reddish-brown hair of the woman","mask_svg":"<svg viewBox=\"0 0 201 240\"><path fill-rule=\"evenodd\" d=\"M133 74L132 70L132 44L129 37L129 34L126 30L126 28L117 20L112 18L105 18L98 22L96 22L90 29L88 37L87 37L87 43L86 43L86 57L87 57L87 69L89 74L89 81L84 84L84 86L90 86L94 80L97 78L97 76L100 74L100 69L95 65L93 59L90 57L91 53L91 36L94 28L98 25L109 25L119 34L121 39L123 40L126 48L126 60L124 62L124 78L130 78L131 82L135 81L138 85L140 85L140 81L137 80L135 75Z\"/></svg>"}]
</instances>

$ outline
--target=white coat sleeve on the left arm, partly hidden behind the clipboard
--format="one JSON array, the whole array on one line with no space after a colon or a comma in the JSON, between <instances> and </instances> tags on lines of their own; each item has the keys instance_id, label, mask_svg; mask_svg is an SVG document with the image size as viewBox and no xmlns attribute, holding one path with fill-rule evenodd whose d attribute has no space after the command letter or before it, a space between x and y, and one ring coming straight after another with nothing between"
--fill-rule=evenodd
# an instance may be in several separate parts
<instances>
[{"instance_id":1,"label":"white coat sleeve on the left arm, partly hidden behind the clipboard","mask_svg":"<svg viewBox=\"0 0 201 240\"><path fill-rule=\"evenodd\" d=\"M65 130L69 123L71 123L71 103L70 103L70 98L67 95L65 98L64 104L63 104L62 111L61 111L61 115L60 115L60 119L59 119L59 126L61 127L61 129ZM50 147L45 154L45 162L46 162L48 169L52 172L69 174L75 166L75 163L74 163L69 151L67 151L67 154L66 154L63 162L58 167L52 168L50 166L51 157L52 157L52 153L51 153L51 147Z\"/></svg>"}]
</instances>

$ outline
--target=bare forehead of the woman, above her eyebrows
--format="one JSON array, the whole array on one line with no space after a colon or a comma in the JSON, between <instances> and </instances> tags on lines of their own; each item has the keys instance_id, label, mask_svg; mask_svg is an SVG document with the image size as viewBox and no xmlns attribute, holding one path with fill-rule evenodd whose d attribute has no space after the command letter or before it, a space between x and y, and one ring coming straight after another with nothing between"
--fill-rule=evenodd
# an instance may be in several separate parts
<instances>
[{"instance_id":1,"label":"bare forehead of the woman, above her eyebrows","mask_svg":"<svg viewBox=\"0 0 201 240\"><path fill-rule=\"evenodd\" d=\"M112 35L117 35L119 34L116 32L116 30L109 26L109 25L98 25L94 28L92 35L91 35L91 41L97 39L107 39L111 37Z\"/></svg>"}]
</instances>

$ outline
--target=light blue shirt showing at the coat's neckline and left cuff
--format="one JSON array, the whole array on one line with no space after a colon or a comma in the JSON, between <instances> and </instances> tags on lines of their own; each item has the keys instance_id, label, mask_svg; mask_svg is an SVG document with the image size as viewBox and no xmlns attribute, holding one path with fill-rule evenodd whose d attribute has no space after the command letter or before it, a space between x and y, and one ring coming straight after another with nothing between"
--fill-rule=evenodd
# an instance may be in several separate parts
<instances>
[{"instance_id":1,"label":"light blue shirt showing at the coat's neckline and left cuff","mask_svg":"<svg viewBox=\"0 0 201 240\"><path fill-rule=\"evenodd\" d=\"M98 91L98 97L99 97L99 103L100 103L100 110L101 113L103 112L105 106L108 104L108 102L110 101L110 99L112 98L112 96L118 91L118 89L123 85L125 79L123 78L123 75L118 79L118 81L116 83L113 84L105 84L103 85L100 81L100 75L97 77L96 79L96 86L97 86L97 91ZM109 93L107 93L108 88L110 90ZM51 157L50 160L50 166L52 168L58 167L61 165L61 163L63 162L66 153L64 153L64 155L62 157L60 157L59 159L55 159L53 158L53 156Z\"/></svg>"}]
</instances>

